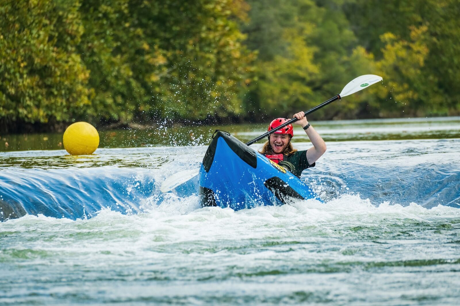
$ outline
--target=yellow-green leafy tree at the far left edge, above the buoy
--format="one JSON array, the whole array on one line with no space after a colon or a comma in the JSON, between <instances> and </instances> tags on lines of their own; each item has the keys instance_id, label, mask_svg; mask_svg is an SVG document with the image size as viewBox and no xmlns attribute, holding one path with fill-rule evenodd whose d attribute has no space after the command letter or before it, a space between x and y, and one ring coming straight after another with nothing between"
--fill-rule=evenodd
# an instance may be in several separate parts
<instances>
[{"instance_id":1,"label":"yellow-green leafy tree at the far left edge, above the buoy","mask_svg":"<svg viewBox=\"0 0 460 306\"><path fill-rule=\"evenodd\" d=\"M78 1L3 1L0 6L0 118L69 121L91 107L90 71L77 53Z\"/></svg>"}]
</instances>

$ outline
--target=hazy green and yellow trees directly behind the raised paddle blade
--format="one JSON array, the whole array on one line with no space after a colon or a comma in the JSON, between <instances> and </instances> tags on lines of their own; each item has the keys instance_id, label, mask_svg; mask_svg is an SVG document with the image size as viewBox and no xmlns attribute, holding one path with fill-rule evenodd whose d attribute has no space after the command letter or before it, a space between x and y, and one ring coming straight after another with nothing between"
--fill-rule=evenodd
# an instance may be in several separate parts
<instances>
[{"instance_id":1,"label":"hazy green and yellow trees directly behind the raised paddle blade","mask_svg":"<svg viewBox=\"0 0 460 306\"><path fill-rule=\"evenodd\" d=\"M253 22L244 28L250 48L258 47L259 75L253 86L259 107L271 116L289 116L338 93L351 79L373 72L373 57L357 38L338 0L249 1ZM274 25L272 29L267 27ZM274 39L278 36L277 39ZM355 117L369 95L356 95L316 117Z\"/></svg>"}]
</instances>

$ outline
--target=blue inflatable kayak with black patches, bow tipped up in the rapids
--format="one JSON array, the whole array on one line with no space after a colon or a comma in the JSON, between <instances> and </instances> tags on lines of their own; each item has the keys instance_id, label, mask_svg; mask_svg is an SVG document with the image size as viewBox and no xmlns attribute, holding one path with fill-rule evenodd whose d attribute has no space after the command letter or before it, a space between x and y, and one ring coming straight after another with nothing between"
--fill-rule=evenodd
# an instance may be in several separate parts
<instances>
[{"instance_id":1,"label":"blue inflatable kayak with black patches, bow tipped up in the rapids","mask_svg":"<svg viewBox=\"0 0 460 306\"><path fill-rule=\"evenodd\" d=\"M198 174L201 206L283 205L316 198L299 178L224 131L216 131Z\"/></svg>"}]
</instances>

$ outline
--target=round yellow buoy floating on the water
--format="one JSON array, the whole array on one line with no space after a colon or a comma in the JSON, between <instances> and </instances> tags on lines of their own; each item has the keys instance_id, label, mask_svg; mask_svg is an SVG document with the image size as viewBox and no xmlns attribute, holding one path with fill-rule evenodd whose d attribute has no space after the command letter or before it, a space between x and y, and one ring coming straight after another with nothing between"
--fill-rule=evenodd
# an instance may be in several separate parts
<instances>
[{"instance_id":1,"label":"round yellow buoy floating on the water","mask_svg":"<svg viewBox=\"0 0 460 306\"><path fill-rule=\"evenodd\" d=\"M64 132L63 145L71 155L92 154L99 145L98 131L87 122L72 123Z\"/></svg>"}]
</instances>

